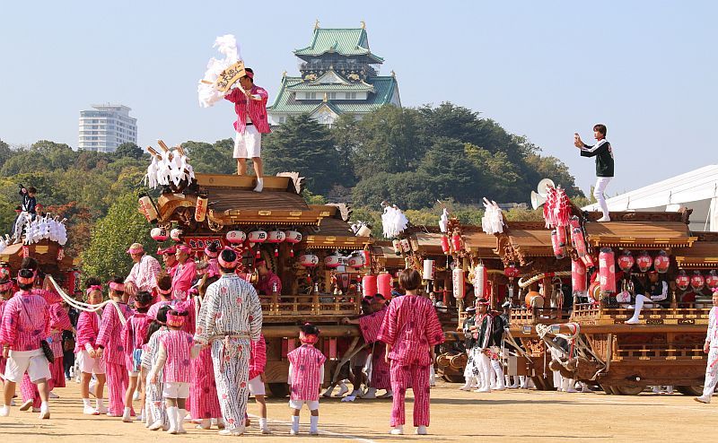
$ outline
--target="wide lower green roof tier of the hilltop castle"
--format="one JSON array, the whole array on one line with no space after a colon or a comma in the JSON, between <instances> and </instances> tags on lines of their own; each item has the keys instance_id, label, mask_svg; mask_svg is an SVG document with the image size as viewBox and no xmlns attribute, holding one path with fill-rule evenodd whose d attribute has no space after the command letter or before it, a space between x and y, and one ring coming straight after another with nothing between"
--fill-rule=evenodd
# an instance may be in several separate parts
<instances>
[{"instance_id":1,"label":"wide lower green roof tier of the hilltop castle","mask_svg":"<svg viewBox=\"0 0 718 443\"><path fill-rule=\"evenodd\" d=\"M379 109L383 105L390 103L392 96L396 91L398 91L397 79L393 75L370 77L367 78L365 82L366 83L358 84L368 84L372 86L374 90L369 93L369 98L367 100L328 100L328 106L335 110L337 114L363 114ZM328 91L328 85L325 84L321 86L324 91ZM307 88L302 89L301 91L314 91L311 83L304 83L302 77L285 76L282 79L282 84L276 95L274 104L268 107L267 111L289 114L311 114L311 112L324 104L323 97L318 100L296 100L295 91L297 90L294 88L297 87ZM344 86L343 89L337 89L337 91L357 90L346 88L346 86Z\"/></svg>"}]
</instances>

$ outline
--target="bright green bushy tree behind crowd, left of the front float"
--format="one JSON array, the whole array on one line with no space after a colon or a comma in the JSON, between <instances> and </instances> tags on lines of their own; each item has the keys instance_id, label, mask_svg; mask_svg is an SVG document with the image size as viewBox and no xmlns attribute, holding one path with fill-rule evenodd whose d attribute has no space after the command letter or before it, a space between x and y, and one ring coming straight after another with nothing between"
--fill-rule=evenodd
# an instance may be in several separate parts
<instances>
[{"instance_id":1,"label":"bright green bushy tree behind crowd, left of the front float","mask_svg":"<svg viewBox=\"0 0 718 443\"><path fill-rule=\"evenodd\" d=\"M92 228L90 246L80 256L83 274L107 281L113 275L127 275L132 260L127 248L142 243L145 251L157 247L150 238L151 226L137 208L137 196L120 195L105 217Z\"/></svg>"}]
</instances>

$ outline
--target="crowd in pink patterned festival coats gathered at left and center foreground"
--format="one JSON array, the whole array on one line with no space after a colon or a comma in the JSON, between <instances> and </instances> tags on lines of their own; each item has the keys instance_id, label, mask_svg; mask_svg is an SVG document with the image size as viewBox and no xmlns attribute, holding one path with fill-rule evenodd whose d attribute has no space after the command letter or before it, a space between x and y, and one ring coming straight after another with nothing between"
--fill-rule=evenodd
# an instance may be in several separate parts
<instances>
[{"instance_id":1,"label":"crowd in pink patterned festival coats gathered at left and center foreground","mask_svg":"<svg viewBox=\"0 0 718 443\"><path fill-rule=\"evenodd\" d=\"M259 291L255 289L245 274L236 272L241 256L232 248L211 245L197 261L185 245L157 253L163 267L141 244L131 245L129 274L107 283L87 278L82 303L64 300L66 294L43 278L32 257L23 259L14 278L10 271L0 275L0 416L10 415L18 405L21 411L49 419L53 389L76 377L82 413L87 415L142 421L148 430L171 434L186 432L185 423L191 420L200 430L216 427L222 435L241 435L249 423L247 404L253 395L259 430L270 432L258 292L275 292L281 281L266 264L259 264ZM347 324L359 326L365 343L351 361L355 390L346 398L391 398L391 433L402 434L405 395L412 388L414 425L417 433L425 434L433 348L443 341L442 327L432 301L418 294L421 276L408 270L399 282L403 295L391 302L381 294L366 296L363 315L346 318ZM302 325L298 335L301 345L286 356L290 431L299 432L306 404L310 433L317 434L327 357L315 347L318 326ZM363 368L367 360L368 378ZM15 402L17 384L21 396ZM324 395L331 395L333 388ZM378 390L384 394L377 395ZM338 395L343 394L340 388Z\"/></svg>"}]
</instances>

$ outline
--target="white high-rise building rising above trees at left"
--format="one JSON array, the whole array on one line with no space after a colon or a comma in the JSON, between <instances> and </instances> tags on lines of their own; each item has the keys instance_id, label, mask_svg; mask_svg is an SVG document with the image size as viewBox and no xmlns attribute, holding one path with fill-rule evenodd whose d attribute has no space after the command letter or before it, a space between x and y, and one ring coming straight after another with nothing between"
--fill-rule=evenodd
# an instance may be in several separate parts
<instances>
[{"instance_id":1,"label":"white high-rise building rising above trees at left","mask_svg":"<svg viewBox=\"0 0 718 443\"><path fill-rule=\"evenodd\" d=\"M115 152L122 143L137 143L137 119L124 105L92 105L80 111L80 143L86 151Z\"/></svg>"}]
</instances>

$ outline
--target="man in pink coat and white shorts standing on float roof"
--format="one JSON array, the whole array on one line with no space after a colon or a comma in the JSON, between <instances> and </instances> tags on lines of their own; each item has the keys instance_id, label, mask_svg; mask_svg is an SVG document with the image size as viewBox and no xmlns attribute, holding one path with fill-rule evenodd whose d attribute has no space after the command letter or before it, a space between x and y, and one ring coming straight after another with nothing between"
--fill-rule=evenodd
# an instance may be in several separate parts
<instances>
[{"instance_id":1,"label":"man in pink coat and white shorts standing on float roof","mask_svg":"<svg viewBox=\"0 0 718 443\"><path fill-rule=\"evenodd\" d=\"M267 122L268 94L264 88L254 84L254 72L247 68L247 73L240 78L239 87L236 83L232 91L224 96L226 100L234 103L237 121L234 129L237 136L234 139L234 158L237 159L237 175L243 176L247 169L247 159L254 164L257 174L255 192L262 192L264 176L262 175L262 134L269 133Z\"/></svg>"}]
</instances>

